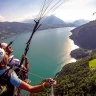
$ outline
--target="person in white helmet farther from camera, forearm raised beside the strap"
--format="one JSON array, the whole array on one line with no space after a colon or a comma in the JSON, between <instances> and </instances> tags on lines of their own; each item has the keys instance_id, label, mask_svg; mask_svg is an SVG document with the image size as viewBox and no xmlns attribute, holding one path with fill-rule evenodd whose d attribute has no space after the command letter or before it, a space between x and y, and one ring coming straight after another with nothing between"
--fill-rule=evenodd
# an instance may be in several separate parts
<instances>
[{"instance_id":1,"label":"person in white helmet farther from camera, forearm raised beside the strap","mask_svg":"<svg viewBox=\"0 0 96 96\"><path fill-rule=\"evenodd\" d=\"M29 71L29 63L28 63L28 58L25 56L25 55L22 55L24 61L25 61L25 65L22 65L21 66L21 71L22 71L22 74L18 74L19 71L17 70L18 69L18 66L20 65L20 60L19 59L16 59L13 57L12 52L13 52L13 49L11 46L7 47L8 44L7 43L0 43L0 48L3 48L7 54L8 54L8 57L9 57L9 66L12 66L13 69L15 70L15 72L17 73L17 75L24 81L26 81L27 83L30 83L31 81L28 79L28 71Z\"/></svg>"}]
</instances>

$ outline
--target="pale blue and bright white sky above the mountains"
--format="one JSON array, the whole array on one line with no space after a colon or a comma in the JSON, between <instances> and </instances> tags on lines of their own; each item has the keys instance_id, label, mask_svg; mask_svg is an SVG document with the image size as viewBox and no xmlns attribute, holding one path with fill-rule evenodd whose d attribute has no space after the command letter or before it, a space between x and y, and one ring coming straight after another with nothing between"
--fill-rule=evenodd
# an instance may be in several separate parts
<instances>
[{"instance_id":1,"label":"pale blue and bright white sky above the mountains","mask_svg":"<svg viewBox=\"0 0 96 96\"><path fill-rule=\"evenodd\" d=\"M52 0L46 0L52 1ZM78 19L96 19L96 0L53 0L48 8L56 4L56 1L66 1L52 13L64 21ZM44 0L0 0L0 21L23 21L38 16ZM48 2L45 4L47 5ZM46 11L47 12L47 11ZM49 11L50 12L50 11Z\"/></svg>"}]
</instances>

